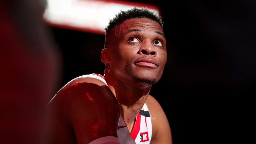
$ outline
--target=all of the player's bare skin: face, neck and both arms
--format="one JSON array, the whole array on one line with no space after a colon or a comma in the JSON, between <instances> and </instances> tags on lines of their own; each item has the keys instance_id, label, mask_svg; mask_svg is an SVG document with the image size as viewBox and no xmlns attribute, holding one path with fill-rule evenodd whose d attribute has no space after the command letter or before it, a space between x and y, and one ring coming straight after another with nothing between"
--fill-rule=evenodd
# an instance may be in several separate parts
<instances>
[{"instance_id":1,"label":"all of the player's bare skin: face, neck and both arms","mask_svg":"<svg viewBox=\"0 0 256 144\"><path fill-rule=\"evenodd\" d=\"M48 144L88 144L117 135L120 115L129 132L146 103L152 121L150 144L172 144L167 117L149 95L167 61L161 26L148 18L128 19L110 29L101 53L105 80L78 77L65 85L48 107L53 113Z\"/></svg>"}]
</instances>

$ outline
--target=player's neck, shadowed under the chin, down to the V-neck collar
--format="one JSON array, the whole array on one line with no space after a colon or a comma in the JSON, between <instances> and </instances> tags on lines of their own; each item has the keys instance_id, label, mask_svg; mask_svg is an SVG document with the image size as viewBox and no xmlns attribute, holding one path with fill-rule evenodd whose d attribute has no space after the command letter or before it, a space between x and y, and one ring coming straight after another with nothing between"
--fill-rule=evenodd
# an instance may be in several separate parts
<instances>
[{"instance_id":1,"label":"player's neck, shadowed under the chin, down to the V-neck collar","mask_svg":"<svg viewBox=\"0 0 256 144\"><path fill-rule=\"evenodd\" d=\"M109 71L104 77L119 102L120 114L131 132L134 119L143 107L151 86L145 86L135 80L132 83L125 83Z\"/></svg>"}]
</instances>

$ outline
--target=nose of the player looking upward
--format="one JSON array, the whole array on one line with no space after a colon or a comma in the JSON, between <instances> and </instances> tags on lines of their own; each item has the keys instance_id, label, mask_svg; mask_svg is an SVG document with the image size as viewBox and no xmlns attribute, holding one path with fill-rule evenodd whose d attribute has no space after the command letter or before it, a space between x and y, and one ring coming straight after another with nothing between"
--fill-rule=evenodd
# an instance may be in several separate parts
<instances>
[{"instance_id":1,"label":"nose of the player looking upward","mask_svg":"<svg viewBox=\"0 0 256 144\"><path fill-rule=\"evenodd\" d=\"M156 55L156 49L150 41L144 41L140 45L139 54Z\"/></svg>"}]
</instances>

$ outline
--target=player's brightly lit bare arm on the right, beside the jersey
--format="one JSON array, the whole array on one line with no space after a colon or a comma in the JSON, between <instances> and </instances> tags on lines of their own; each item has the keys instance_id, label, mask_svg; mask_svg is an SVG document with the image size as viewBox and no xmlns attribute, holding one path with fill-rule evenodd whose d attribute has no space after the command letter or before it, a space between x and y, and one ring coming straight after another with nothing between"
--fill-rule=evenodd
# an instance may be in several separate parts
<instances>
[{"instance_id":1,"label":"player's brightly lit bare arm on the right, beside the jersey","mask_svg":"<svg viewBox=\"0 0 256 144\"><path fill-rule=\"evenodd\" d=\"M148 96L146 104L152 121L152 139L150 144L172 144L171 128L164 110L151 95Z\"/></svg>"}]
</instances>

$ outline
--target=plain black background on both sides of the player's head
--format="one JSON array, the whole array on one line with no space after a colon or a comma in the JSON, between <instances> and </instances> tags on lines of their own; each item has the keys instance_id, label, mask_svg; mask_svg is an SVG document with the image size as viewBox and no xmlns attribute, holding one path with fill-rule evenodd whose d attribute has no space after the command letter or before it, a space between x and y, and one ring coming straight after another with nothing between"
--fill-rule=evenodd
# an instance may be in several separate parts
<instances>
[{"instance_id":1,"label":"plain black background on both sides of the player's head","mask_svg":"<svg viewBox=\"0 0 256 144\"><path fill-rule=\"evenodd\" d=\"M256 1L133 2L157 5L165 22L168 62L150 93L166 112L173 143L245 142L255 96ZM103 74L104 35L50 28L63 56L59 88Z\"/></svg>"}]
</instances>

